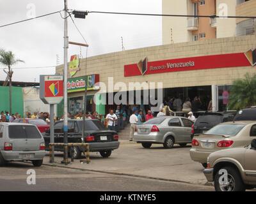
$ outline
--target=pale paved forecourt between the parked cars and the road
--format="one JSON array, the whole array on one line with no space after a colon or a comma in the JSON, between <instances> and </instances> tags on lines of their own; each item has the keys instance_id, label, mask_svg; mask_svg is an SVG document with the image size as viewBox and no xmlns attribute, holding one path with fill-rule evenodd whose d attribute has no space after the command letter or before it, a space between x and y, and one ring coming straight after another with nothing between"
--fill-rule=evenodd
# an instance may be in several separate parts
<instances>
[{"instance_id":1,"label":"pale paved forecourt between the parked cars and the road","mask_svg":"<svg viewBox=\"0 0 256 204\"><path fill-rule=\"evenodd\" d=\"M61 152L56 154L54 164L49 163L49 154L47 154L44 164L116 175L209 185L202 173L201 164L191 161L189 149L190 147L182 148L179 145L175 145L173 149L163 149L163 145L152 145L151 149L144 149L138 143L120 141L120 148L113 151L109 158L102 158L98 152L91 152L90 164L75 160L65 166L60 163L63 159Z\"/></svg>"}]
</instances>

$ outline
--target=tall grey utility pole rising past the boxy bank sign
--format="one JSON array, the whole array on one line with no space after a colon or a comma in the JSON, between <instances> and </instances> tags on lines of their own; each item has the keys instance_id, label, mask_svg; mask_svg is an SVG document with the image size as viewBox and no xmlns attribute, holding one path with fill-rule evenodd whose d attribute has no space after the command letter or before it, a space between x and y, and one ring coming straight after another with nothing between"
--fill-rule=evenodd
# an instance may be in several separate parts
<instances>
[{"instance_id":1,"label":"tall grey utility pole rising past the boxy bank sign","mask_svg":"<svg viewBox=\"0 0 256 204\"><path fill-rule=\"evenodd\" d=\"M68 70L68 6L67 0L64 0L65 3L65 15L64 15L64 76L63 76L63 88L64 88L64 121L63 121L63 143L64 146L64 163L68 164L68 97L67 97L67 70Z\"/></svg>"}]
</instances>

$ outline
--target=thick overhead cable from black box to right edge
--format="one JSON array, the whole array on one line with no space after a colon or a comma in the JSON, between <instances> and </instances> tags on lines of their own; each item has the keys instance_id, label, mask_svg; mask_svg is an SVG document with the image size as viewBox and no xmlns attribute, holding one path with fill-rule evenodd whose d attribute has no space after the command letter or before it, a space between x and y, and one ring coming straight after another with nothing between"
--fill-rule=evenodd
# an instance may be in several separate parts
<instances>
[{"instance_id":1,"label":"thick overhead cable from black box to right edge","mask_svg":"<svg viewBox=\"0 0 256 204\"><path fill-rule=\"evenodd\" d=\"M256 17L239 17L239 16L219 16L219 15L174 15L174 14L157 14L157 13L122 13L122 12L108 12L108 11L86 11L87 13L103 13L103 14L117 14L117 15L142 15L155 17L194 17L194 18L256 18Z\"/></svg>"}]
</instances>

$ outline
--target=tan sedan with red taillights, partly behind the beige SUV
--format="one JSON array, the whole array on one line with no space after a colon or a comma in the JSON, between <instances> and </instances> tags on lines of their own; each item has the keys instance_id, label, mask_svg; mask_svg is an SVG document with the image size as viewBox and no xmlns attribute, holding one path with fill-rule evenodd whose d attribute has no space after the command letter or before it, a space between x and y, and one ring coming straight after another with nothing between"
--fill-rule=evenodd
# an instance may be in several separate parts
<instances>
[{"instance_id":1,"label":"tan sedan with red taillights, partly behind the beige SUV","mask_svg":"<svg viewBox=\"0 0 256 204\"><path fill-rule=\"evenodd\" d=\"M212 152L244 147L256 139L256 121L224 122L192 140L190 157L207 167L207 157Z\"/></svg>"}]
</instances>

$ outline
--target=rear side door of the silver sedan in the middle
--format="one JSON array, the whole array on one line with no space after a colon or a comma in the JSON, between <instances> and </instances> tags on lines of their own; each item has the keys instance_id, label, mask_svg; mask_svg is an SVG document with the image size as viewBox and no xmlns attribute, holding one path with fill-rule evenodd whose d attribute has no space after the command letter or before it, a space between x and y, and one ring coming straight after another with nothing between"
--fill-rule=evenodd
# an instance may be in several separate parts
<instances>
[{"instance_id":1,"label":"rear side door of the silver sedan in the middle","mask_svg":"<svg viewBox=\"0 0 256 204\"><path fill-rule=\"evenodd\" d=\"M182 127L180 119L173 118L168 122L169 132L174 133L175 142L185 142L184 128Z\"/></svg>"}]
</instances>

